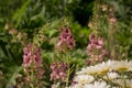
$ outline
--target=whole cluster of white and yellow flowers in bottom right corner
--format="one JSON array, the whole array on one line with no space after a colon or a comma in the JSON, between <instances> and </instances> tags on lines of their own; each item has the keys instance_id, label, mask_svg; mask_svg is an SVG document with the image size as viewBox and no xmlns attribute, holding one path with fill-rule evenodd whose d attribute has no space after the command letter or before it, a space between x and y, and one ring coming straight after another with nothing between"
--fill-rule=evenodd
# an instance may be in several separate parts
<instances>
[{"instance_id":1,"label":"whole cluster of white and yellow flowers in bottom right corner","mask_svg":"<svg viewBox=\"0 0 132 88\"><path fill-rule=\"evenodd\" d=\"M131 73L132 61L103 62L76 73L69 88L132 88Z\"/></svg>"}]
</instances>

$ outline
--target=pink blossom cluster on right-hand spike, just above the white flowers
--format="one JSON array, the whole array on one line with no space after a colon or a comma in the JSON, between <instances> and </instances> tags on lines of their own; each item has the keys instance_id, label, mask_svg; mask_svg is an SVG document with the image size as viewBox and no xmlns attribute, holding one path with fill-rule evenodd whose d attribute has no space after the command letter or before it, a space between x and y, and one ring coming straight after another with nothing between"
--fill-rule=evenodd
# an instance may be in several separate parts
<instances>
[{"instance_id":1,"label":"pink blossom cluster on right-hand spike, just above the white flowers","mask_svg":"<svg viewBox=\"0 0 132 88\"><path fill-rule=\"evenodd\" d=\"M107 54L107 51L105 50L105 42L101 36L96 37L94 33L89 35L87 54L90 56L90 58L94 58L98 62L101 62L103 59L103 56Z\"/></svg>"}]
</instances>

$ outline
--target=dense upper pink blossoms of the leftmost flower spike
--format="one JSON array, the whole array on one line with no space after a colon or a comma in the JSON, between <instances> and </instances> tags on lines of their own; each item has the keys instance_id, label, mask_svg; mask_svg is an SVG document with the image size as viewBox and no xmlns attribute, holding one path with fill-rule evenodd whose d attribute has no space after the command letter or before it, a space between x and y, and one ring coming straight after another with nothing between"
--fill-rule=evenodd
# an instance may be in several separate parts
<instances>
[{"instance_id":1,"label":"dense upper pink blossoms of the leftmost flower spike","mask_svg":"<svg viewBox=\"0 0 132 88\"><path fill-rule=\"evenodd\" d=\"M23 48L23 66L28 68L33 64L35 67L42 66L42 57L41 52L42 50L37 45L29 44L26 47Z\"/></svg>"}]
</instances>

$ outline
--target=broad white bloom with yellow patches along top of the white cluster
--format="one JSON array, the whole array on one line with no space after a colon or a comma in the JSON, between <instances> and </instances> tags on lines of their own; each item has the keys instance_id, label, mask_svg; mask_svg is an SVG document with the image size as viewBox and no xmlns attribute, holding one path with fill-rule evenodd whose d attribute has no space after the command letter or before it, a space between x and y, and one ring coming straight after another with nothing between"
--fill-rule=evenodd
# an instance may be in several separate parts
<instances>
[{"instance_id":1,"label":"broad white bloom with yellow patches along top of the white cluster","mask_svg":"<svg viewBox=\"0 0 132 88\"><path fill-rule=\"evenodd\" d=\"M132 62L128 61L108 61L102 62L101 64L97 64L95 66L89 66L87 68L82 68L80 72L76 73L77 75L88 74L88 75L105 75L110 69L113 70L132 70Z\"/></svg>"}]
</instances>

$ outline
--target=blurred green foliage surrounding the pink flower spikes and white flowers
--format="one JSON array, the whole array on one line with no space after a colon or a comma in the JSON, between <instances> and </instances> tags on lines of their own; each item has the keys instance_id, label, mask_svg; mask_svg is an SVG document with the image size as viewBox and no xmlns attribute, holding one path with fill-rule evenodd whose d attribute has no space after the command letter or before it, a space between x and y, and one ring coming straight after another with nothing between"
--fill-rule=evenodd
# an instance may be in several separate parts
<instances>
[{"instance_id":1,"label":"blurred green foliage surrounding the pink flower spikes and white flowers","mask_svg":"<svg viewBox=\"0 0 132 88\"><path fill-rule=\"evenodd\" d=\"M101 11L101 7L95 9L95 0L0 0L0 88L14 84L15 75L21 73L23 47L28 43L40 44L45 69L51 72L48 66L54 59L59 26L70 28L76 38L76 48L70 53L78 68L87 58L85 51L92 30L98 30L105 37L106 47L113 53L114 59L132 59L131 0L97 0L97 3L113 8L114 26L108 22L112 14ZM99 18L91 19L96 14ZM98 29L88 26L91 21ZM52 82L46 80L50 86Z\"/></svg>"}]
</instances>

